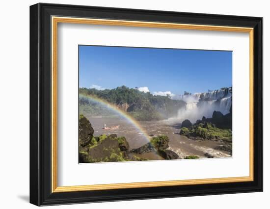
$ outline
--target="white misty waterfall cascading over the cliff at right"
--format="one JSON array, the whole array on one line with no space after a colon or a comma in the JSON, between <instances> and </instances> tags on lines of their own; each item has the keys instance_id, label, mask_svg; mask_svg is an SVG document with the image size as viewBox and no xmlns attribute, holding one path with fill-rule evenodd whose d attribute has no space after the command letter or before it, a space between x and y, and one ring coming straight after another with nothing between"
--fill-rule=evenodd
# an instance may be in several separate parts
<instances>
[{"instance_id":1,"label":"white misty waterfall cascading over the cliff at right","mask_svg":"<svg viewBox=\"0 0 270 209\"><path fill-rule=\"evenodd\" d=\"M187 103L186 108L178 111L178 119L189 119L196 122L197 119L212 118L214 111L223 115L230 112L232 105L232 88L213 90L206 93L177 95L173 99L183 100Z\"/></svg>"}]
</instances>

